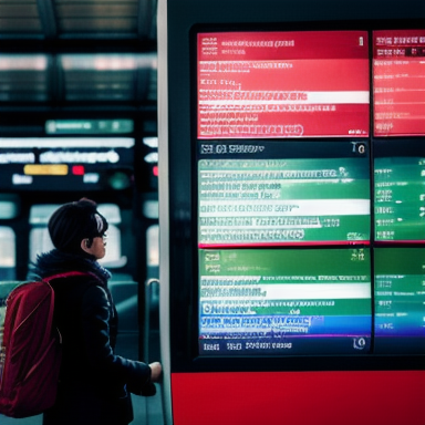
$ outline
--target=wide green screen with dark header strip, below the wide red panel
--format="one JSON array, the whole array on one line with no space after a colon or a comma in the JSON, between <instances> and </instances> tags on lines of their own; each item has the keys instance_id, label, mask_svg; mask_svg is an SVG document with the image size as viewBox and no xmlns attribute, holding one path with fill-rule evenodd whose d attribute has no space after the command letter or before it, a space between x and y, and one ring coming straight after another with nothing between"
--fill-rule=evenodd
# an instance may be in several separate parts
<instances>
[{"instance_id":1,"label":"wide green screen with dark header strip, below the wide red panel","mask_svg":"<svg viewBox=\"0 0 425 425\"><path fill-rule=\"evenodd\" d=\"M198 247L367 245L364 142L200 143Z\"/></svg>"}]
</instances>

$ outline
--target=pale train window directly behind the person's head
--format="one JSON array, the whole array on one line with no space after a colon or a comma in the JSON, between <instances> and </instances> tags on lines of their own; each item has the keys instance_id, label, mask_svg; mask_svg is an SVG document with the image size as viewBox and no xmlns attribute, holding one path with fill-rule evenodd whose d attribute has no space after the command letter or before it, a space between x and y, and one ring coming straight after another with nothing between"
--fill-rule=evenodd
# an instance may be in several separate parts
<instances>
[{"instance_id":1,"label":"pale train window directly behind the person's head","mask_svg":"<svg viewBox=\"0 0 425 425\"><path fill-rule=\"evenodd\" d=\"M37 260L37 256L41 252L48 252L53 249L53 243L49 236L48 222L51 215L60 207L60 205L34 205L30 211L30 261ZM106 256L99 262L107 269L120 269L126 266L127 258L122 255L121 238L121 210L115 204L101 204L99 211L106 218L108 222L107 229L107 249ZM116 274L113 273L113 277ZM122 276L117 276L122 279ZM131 280L128 277L127 279Z\"/></svg>"}]
</instances>

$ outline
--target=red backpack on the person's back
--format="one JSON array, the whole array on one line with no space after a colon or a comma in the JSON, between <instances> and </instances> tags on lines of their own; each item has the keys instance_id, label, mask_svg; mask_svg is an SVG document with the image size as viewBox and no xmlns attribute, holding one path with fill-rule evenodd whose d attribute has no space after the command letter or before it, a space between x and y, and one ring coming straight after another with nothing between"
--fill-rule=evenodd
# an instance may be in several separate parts
<instances>
[{"instance_id":1,"label":"red backpack on the person's back","mask_svg":"<svg viewBox=\"0 0 425 425\"><path fill-rule=\"evenodd\" d=\"M4 284L2 292L10 293L0 297L0 414L33 416L54 404L62 341L53 322L54 291L49 282L81 274L86 273Z\"/></svg>"}]
</instances>

